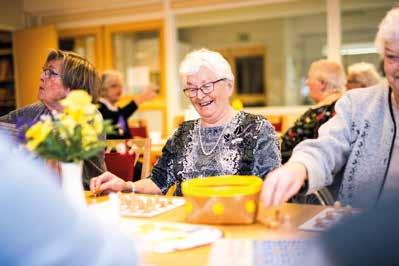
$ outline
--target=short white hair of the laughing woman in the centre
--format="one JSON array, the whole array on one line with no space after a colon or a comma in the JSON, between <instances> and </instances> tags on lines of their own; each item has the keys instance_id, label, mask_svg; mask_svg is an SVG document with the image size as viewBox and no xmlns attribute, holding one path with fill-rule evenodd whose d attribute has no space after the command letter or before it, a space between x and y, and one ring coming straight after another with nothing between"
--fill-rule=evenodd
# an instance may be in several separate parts
<instances>
[{"instance_id":1,"label":"short white hair of the laughing woman in the centre","mask_svg":"<svg viewBox=\"0 0 399 266\"><path fill-rule=\"evenodd\" d=\"M179 73L183 83L186 83L188 75L198 73L201 67L212 71L217 79L226 78L234 81L234 75L227 60L218 52L202 48L188 53L181 62Z\"/></svg>"}]
</instances>

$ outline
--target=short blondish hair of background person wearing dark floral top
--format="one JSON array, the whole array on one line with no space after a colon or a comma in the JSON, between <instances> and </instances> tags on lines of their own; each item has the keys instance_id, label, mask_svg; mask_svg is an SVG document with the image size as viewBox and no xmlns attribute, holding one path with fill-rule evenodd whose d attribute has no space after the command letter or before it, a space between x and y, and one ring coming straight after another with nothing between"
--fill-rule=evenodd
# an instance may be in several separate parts
<instances>
[{"instance_id":1,"label":"short blondish hair of background person wearing dark floral top","mask_svg":"<svg viewBox=\"0 0 399 266\"><path fill-rule=\"evenodd\" d=\"M341 64L326 59L317 60L310 65L309 73L324 82L328 90L345 91L346 77Z\"/></svg>"}]
</instances>

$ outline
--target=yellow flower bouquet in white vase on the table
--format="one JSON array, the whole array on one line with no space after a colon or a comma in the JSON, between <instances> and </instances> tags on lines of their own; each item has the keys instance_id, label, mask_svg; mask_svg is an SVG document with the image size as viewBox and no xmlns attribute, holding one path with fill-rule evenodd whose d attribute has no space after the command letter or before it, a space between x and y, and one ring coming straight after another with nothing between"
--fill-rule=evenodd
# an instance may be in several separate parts
<instances>
[{"instance_id":1,"label":"yellow flower bouquet in white vase on the table","mask_svg":"<svg viewBox=\"0 0 399 266\"><path fill-rule=\"evenodd\" d=\"M113 127L103 121L84 90L71 91L60 103L62 113L42 116L26 131L26 147L44 159L61 162L64 192L72 201L79 201L75 205L84 205L82 161L104 150L105 134Z\"/></svg>"}]
</instances>

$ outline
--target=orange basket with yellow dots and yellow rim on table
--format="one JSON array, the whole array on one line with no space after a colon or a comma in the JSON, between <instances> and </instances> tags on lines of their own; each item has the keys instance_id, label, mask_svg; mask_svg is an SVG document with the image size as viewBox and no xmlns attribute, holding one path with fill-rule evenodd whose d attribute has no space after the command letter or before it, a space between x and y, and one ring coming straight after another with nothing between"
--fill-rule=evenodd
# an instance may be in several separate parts
<instances>
[{"instance_id":1,"label":"orange basket with yellow dots and yellow rim on table","mask_svg":"<svg viewBox=\"0 0 399 266\"><path fill-rule=\"evenodd\" d=\"M182 183L187 221L205 224L253 223L262 179L257 176L214 176Z\"/></svg>"}]
</instances>

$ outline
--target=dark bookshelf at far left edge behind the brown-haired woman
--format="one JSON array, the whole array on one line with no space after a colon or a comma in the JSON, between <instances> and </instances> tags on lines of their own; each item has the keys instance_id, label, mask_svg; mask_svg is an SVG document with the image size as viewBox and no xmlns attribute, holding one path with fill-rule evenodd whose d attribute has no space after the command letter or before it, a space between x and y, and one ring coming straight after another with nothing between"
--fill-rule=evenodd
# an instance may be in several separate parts
<instances>
[{"instance_id":1,"label":"dark bookshelf at far left edge behind the brown-haired woman","mask_svg":"<svg viewBox=\"0 0 399 266\"><path fill-rule=\"evenodd\" d=\"M15 109L12 32L0 31L0 115Z\"/></svg>"}]
</instances>

